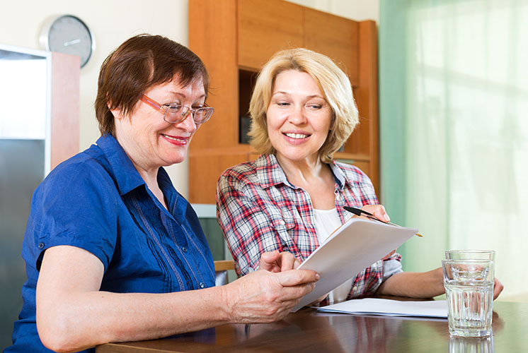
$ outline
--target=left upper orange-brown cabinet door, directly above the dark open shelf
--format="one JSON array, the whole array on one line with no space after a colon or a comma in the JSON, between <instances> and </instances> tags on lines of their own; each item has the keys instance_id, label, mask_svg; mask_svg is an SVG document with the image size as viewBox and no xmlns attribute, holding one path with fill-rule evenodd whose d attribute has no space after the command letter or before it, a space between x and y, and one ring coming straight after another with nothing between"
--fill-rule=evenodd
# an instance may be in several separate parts
<instances>
[{"instance_id":1,"label":"left upper orange-brown cabinet door, directly above the dark open shelf","mask_svg":"<svg viewBox=\"0 0 528 353\"><path fill-rule=\"evenodd\" d=\"M280 0L239 0L239 66L258 69L280 49L303 46L303 8Z\"/></svg>"}]
</instances>

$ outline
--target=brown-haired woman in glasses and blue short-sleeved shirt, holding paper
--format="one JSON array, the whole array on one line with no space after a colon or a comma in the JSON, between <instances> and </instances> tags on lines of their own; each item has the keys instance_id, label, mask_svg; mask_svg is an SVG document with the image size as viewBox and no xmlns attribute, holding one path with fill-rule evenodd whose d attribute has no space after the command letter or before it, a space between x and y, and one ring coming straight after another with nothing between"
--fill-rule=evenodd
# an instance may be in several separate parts
<instances>
[{"instance_id":1,"label":"brown-haired woman in glasses and blue short-sleeved shirt, holding paper","mask_svg":"<svg viewBox=\"0 0 528 353\"><path fill-rule=\"evenodd\" d=\"M290 270L293 256L278 252L263 254L255 274L214 287L197 216L162 167L182 162L210 119L207 88L202 61L166 37L132 37L104 61L96 98L103 136L33 196L28 281L6 352L74 352L274 321L311 291L318 275Z\"/></svg>"}]
</instances>

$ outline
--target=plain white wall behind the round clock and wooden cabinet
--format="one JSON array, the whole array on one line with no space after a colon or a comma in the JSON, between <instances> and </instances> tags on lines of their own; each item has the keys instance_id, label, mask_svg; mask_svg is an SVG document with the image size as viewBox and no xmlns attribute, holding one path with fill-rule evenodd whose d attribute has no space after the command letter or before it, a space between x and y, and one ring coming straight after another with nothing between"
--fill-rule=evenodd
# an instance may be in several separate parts
<instances>
[{"instance_id":1,"label":"plain white wall behind the round clock and wooden cabinet","mask_svg":"<svg viewBox=\"0 0 528 353\"><path fill-rule=\"evenodd\" d=\"M222 0L217 0L222 1ZM379 18L379 0L292 0L356 20ZM99 136L93 112L98 70L110 52L132 35L142 32L166 35L188 44L187 0L33 0L4 1L0 11L0 43L40 49L38 35L43 21L54 15L78 16L96 37L96 51L81 69L81 136L79 150L88 148ZM21 92L23 94L23 92ZM28 102L31 97L28 97ZM188 164L168 168L176 189L188 195Z\"/></svg>"}]
</instances>

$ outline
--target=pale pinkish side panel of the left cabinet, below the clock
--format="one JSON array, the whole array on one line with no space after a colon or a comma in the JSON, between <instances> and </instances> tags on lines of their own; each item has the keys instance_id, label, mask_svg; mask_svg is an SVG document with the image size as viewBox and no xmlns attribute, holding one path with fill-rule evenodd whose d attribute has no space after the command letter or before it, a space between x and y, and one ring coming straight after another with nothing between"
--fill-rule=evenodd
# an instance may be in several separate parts
<instances>
[{"instance_id":1,"label":"pale pinkish side panel of the left cabinet, below the clock","mask_svg":"<svg viewBox=\"0 0 528 353\"><path fill-rule=\"evenodd\" d=\"M51 166L79 152L79 56L52 53Z\"/></svg>"}]
</instances>

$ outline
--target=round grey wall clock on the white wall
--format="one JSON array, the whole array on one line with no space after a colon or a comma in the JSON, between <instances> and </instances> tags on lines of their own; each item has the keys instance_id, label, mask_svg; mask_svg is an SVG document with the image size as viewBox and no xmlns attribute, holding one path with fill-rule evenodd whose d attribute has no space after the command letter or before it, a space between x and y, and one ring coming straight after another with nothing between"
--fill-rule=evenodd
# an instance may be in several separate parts
<instances>
[{"instance_id":1,"label":"round grey wall clock on the white wall","mask_svg":"<svg viewBox=\"0 0 528 353\"><path fill-rule=\"evenodd\" d=\"M52 52L76 55L81 58L81 67L86 65L93 51L94 42L90 30L79 18L71 15L52 20L41 37L45 49Z\"/></svg>"}]
</instances>

